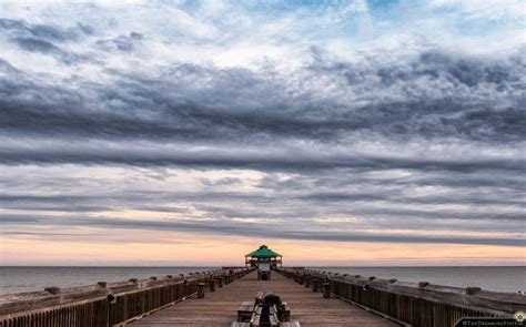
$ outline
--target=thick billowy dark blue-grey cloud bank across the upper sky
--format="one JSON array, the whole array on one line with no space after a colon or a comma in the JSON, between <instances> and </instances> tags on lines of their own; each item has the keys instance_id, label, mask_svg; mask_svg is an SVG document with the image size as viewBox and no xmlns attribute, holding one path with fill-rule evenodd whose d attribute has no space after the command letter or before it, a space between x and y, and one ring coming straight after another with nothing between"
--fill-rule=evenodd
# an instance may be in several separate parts
<instances>
[{"instance_id":1,"label":"thick billowy dark blue-grey cloud bank across the upper sky","mask_svg":"<svg viewBox=\"0 0 526 327\"><path fill-rule=\"evenodd\" d=\"M23 41L27 49L55 49L51 43ZM522 57L483 61L428 51L403 67L361 68L371 64L316 63L297 72L299 79L321 75L353 93L346 104L342 94L294 90L296 85L270 78L272 71L256 74L189 64L169 68L162 76L109 71L117 79L113 84L89 83L82 92L34 85L29 76L13 85L17 76L10 76L1 81L2 89L11 91L1 104L11 120L2 127L48 135L192 141L242 136L338 142L346 136L383 135L401 141L458 137L505 143L526 136ZM87 90L95 98L83 95ZM291 91L299 93L291 96ZM52 99L60 93L61 99L42 103L22 96L33 92ZM378 93L386 94L384 100L377 100Z\"/></svg>"}]
</instances>

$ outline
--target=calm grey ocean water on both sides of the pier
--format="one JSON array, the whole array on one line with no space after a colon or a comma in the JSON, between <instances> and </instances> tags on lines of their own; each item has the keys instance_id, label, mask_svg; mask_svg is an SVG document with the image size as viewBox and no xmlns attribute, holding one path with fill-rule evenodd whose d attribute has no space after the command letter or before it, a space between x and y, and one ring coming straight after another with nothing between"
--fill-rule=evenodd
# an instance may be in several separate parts
<instances>
[{"instance_id":1,"label":"calm grey ocean water on both sides of the pier","mask_svg":"<svg viewBox=\"0 0 526 327\"><path fill-rule=\"evenodd\" d=\"M0 267L0 294L72 287L97 282L178 275L214 267ZM496 292L526 290L526 266L514 267L310 267L341 274L429 282L447 286L478 286Z\"/></svg>"}]
</instances>

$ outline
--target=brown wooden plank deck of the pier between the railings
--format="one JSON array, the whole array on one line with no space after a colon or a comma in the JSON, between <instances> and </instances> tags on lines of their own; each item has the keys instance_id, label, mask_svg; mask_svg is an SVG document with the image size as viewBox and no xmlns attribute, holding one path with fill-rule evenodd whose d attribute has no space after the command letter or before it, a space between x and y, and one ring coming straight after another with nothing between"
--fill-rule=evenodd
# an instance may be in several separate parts
<instances>
[{"instance_id":1,"label":"brown wooden plank deck of the pier between the railings","mask_svg":"<svg viewBox=\"0 0 526 327\"><path fill-rule=\"evenodd\" d=\"M260 290L272 290L289 303L291 320L300 320L302 326L397 326L338 298L323 298L322 293L314 293L277 273L272 274L272 280L257 280L255 272L216 288L214 293L206 293L204 298L192 297L136 320L131 326L231 326L237 318L241 303L254 299Z\"/></svg>"}]
</instances>

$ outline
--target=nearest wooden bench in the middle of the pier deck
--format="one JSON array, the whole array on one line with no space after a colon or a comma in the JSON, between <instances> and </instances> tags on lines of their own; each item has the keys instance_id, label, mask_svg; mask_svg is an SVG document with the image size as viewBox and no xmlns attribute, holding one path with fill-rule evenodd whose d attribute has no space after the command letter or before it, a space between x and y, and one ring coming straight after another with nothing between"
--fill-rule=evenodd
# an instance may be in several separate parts
<instances>
[{"instance_id":1,"label":"nearest wooden bench in the middle of the pier deck","mask_svg":"<svg viewBox=\"0 0 526 327\"><path fill-rule=\"evenodd\" d=\"M260 327L260 326L300 326L299 321L289 321L291 308L281 302L277 295L272 293L263 296L259 292L254 302L243 302L237 308L237 321L232 323L233 327ZM247 324L247 325L246 325Z\"/></svg>"}]
</instances>

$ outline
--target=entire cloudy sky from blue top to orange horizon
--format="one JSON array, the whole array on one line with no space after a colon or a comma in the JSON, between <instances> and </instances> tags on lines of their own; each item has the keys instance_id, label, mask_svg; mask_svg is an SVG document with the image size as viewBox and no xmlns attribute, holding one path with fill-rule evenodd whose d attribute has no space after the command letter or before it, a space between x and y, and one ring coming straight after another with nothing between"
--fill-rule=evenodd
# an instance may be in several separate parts
<instances>
[{"instance_id":1,"label":"entire cloudy sky from blue top to orange horizon","mask_svg":"<svg viewBox=\"0 0 526 327\"><path fill-rule=\"evenodd\" d=\"M525 265L526 4L0 1L0 264Z\"/></svg>"}]
</instances>

